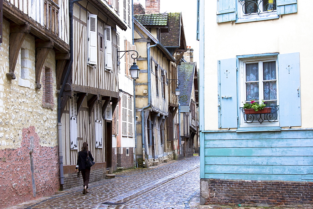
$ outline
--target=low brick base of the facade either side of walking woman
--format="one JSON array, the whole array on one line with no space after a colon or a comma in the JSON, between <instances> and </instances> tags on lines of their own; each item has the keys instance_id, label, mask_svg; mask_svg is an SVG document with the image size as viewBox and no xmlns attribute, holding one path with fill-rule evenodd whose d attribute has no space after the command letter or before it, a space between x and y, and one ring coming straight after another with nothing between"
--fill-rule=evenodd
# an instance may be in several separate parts
<instances>
[{"instance_id":1,"label":"low brick base of the facade either side of walking woman","mask_svg":"<svg viewBox=\"0 0 313 209\"><path fill-rule=\"evenodd\" d=\"M102 179L105 179L106 174L106 168L98 168L95 170L90 170L90 180L89 182L99 181ZM83 177L81 176L81 173L79 175L79 178L77 178L77 173L69 173L64 174L64 185L63 189L69 189L75 186L82 186L83 187Z\"/></svg>"}]
</instances>

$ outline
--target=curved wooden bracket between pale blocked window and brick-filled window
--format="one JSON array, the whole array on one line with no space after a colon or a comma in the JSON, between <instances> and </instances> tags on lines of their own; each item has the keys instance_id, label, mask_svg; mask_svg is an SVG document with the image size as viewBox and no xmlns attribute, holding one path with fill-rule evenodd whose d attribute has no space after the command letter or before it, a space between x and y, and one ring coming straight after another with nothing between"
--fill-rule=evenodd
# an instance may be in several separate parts
<instances>
[{"instance_id":1,"label":"curved wooden bracket between pale blocked window and brick-filled window","mask_svg":"<svg viewBox=\"0 0 313 209\"><path fill-rule=\"evenodd\" d=\"M40 75L41 70L44 67L44 62L48 56L49 50L53 48L54 43L52 41L43 41L41 39L37 39L36 46L36 67L35 67L35 88L40 89Z\"/></svg>"}]
</instances>

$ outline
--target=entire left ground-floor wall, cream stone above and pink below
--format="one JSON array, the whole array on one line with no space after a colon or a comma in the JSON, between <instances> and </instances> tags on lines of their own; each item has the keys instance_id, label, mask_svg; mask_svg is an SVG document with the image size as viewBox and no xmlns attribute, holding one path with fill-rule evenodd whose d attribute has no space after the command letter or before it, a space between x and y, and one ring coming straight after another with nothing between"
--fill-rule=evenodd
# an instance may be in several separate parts
<instances>
[{"instance_id":1,"label":"entire left ground-floor wall, cream stone above and pink below","mask_svg":"<svg viewBox=\"0 0 313 209\"><path fill-rule=\"evenodd\" d=\"M3 20L0 48L0 208L53 195L59 189L55 53L44 63L50 69L52 98L43 104L43 88L35 89L35 38L27 35L14 74L9 72L9 23ZM48 77L49 77L48 76ZM42 79L40 79L42 81ZM48 87L48 86L47 86Z\"/></svg>"}]
</instances>

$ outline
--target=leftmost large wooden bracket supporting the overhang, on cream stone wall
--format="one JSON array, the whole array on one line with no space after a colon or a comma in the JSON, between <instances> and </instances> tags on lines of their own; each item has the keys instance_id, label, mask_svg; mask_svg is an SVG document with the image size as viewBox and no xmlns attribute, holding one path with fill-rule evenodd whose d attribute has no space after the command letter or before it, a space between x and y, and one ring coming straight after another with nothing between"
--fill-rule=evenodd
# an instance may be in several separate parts
<instances>
[{"instance_id":1,"label":"leftmost large wooden bracket supporting the overhang, on cream stone wall","mask_svg":"<svg viewBox=\"0 0 313 209\"><path fill-rule=\"evenodd\" d=\"M9 41L9 73L7 73L8 79L15 79L14 74L16 61L18 59L19 51L26 35L30 32L30 25L18 25L16 23L10 23L10 41Z\"/></svg>"}]
</instances>

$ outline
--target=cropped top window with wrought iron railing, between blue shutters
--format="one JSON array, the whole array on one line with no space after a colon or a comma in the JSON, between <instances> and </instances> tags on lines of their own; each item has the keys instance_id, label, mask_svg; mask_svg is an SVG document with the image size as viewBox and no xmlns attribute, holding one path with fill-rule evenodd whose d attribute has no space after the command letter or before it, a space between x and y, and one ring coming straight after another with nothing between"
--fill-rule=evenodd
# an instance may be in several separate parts
<instances>
[{"instance_id":1,"label":"cropped top window with wrought iron railing, between blue shutters","mask_svg":"<svg viewBox=\"0 0 313 209\"><path fill-rule=\"evenodd\" d=\"M276 0L239 0L245 15L271 13L276 11Z\"/></svg>"}]
</instances>

